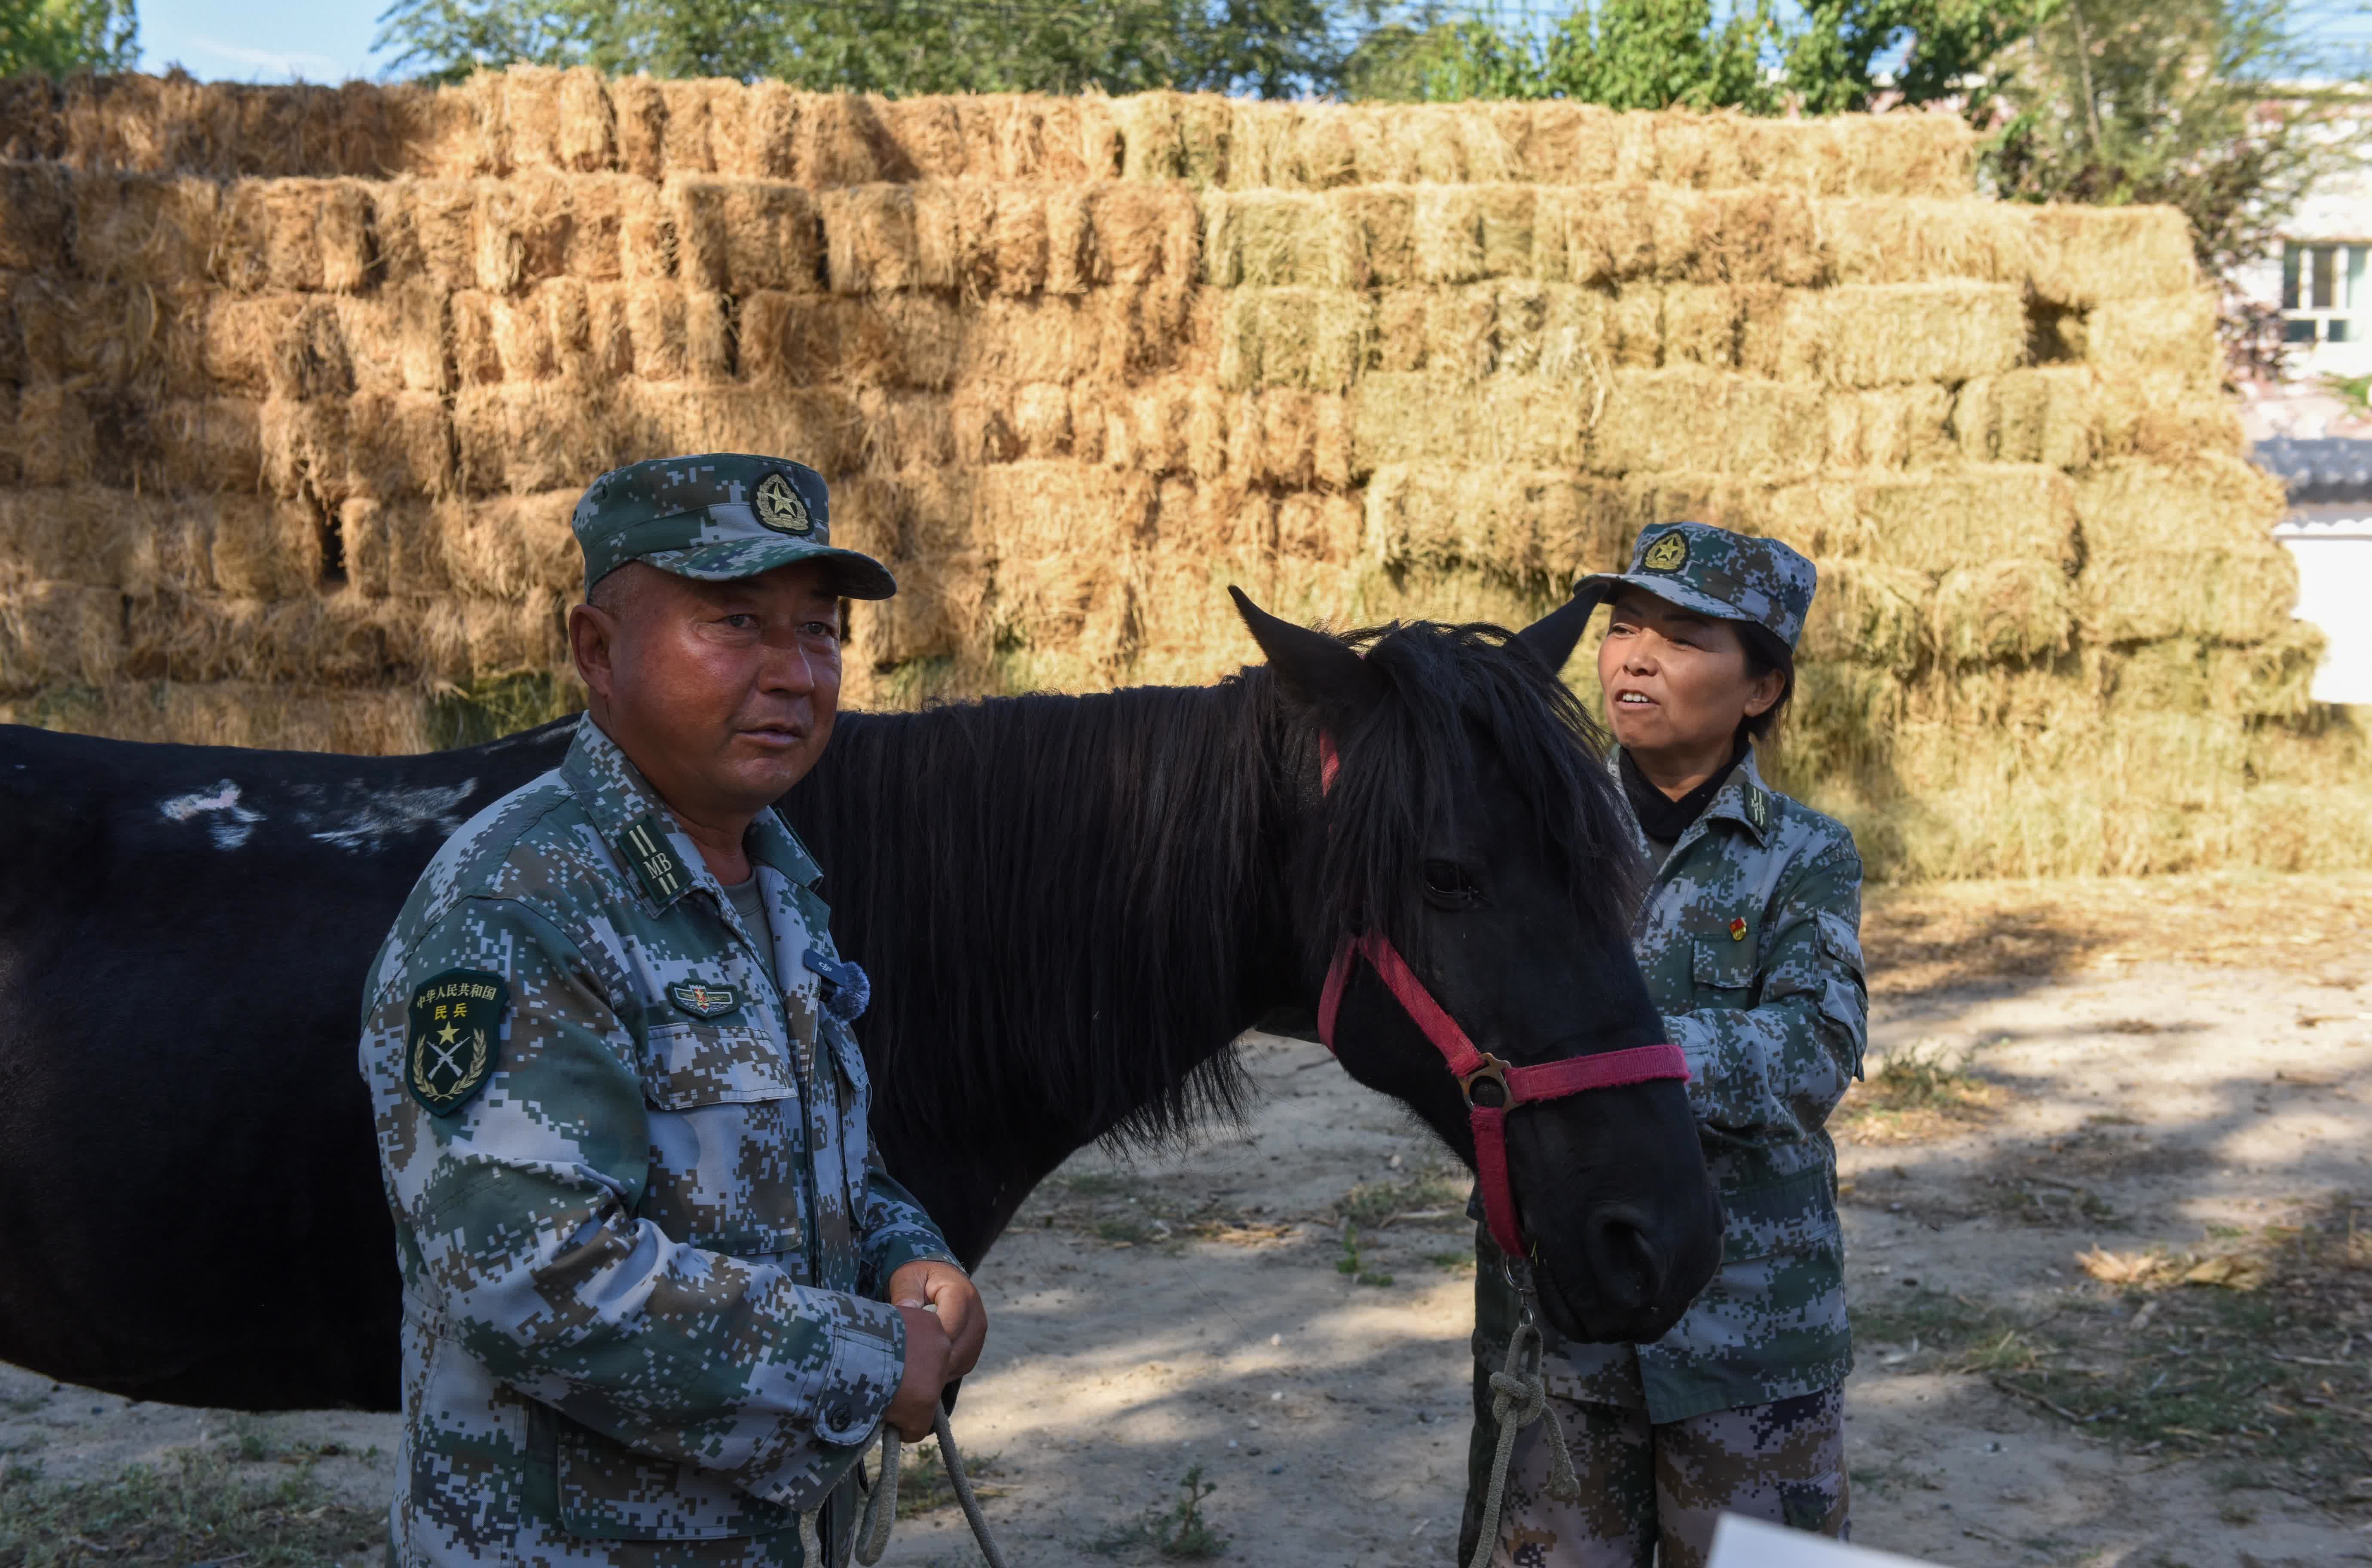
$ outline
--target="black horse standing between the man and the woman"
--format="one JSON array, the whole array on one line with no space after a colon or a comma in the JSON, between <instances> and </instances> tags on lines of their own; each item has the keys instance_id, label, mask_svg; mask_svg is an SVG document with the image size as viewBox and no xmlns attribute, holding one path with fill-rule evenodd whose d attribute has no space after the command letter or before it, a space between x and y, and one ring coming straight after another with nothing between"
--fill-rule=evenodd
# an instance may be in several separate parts
<instances>
[{"instance_id":1,"label":"black horse standing between the man and the woman","mask_svg":"<svg viewBox=\"0 0 2372 1568\"><path fill-rule=\"evenodd\" d=\"M849 714L783 802L875 980L882 1153L968 1264L1072 1150L1238 1105L1229 1041L1307 1011L1345 932L1385 932L1511 1063L1660 1034L1620 802L1554 678L1580 617L1354 652L1243 610L1267 669ZM565 747L567 724L387 759L0 728L0 1359L394 1407L363 970L436 844ZM1471 1162L1459 1086L1371 973L1335 1041ZM1679 1084L1525 1108L1509 1148L1551 1321L1663 1333L1720 1248Z\"/></svg>"}]
</instances>

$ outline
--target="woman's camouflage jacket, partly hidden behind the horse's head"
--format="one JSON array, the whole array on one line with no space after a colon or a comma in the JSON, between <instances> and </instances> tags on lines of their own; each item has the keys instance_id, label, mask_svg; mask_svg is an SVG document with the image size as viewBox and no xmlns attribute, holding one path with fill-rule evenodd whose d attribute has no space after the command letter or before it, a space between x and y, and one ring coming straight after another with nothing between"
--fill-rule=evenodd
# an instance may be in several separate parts
<instances>
[{"instance_id":1,"label":"woman's camouflage jacket, partly hidden behind the horse's head","mask_svg":"<svg viewBox=\"0 0 2372 1568\"><path fill-rule=\"evenodd\" d=\"M1653 1345L1556 1345L1554 1392L1682 1421L1831 1388L1853 1369L1824 1122L1862 1072L1860 923L1853 835L1772 792L1748 754L1672 844L1634 935L1649 994L1689 1053L1727 1215L1722 1267ZM1482 1269L1475 1352L1492 1366L1513 1312Z\"/></svg>"}]
</instances>

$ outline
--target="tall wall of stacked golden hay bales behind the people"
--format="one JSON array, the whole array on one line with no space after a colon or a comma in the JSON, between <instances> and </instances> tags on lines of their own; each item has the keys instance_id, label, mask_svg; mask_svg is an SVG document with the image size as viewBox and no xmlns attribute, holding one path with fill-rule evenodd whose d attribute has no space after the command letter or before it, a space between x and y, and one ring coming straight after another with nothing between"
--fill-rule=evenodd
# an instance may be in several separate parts
<instances>
[{"instance_id":1,"label":"tall wall of stacked golden hay bales behind the people","mask_svg":"<svg viewBox=\"0 0 2372 1568\"><path fill-rule=\"evenodd\" d=\"M567 510L835 479L897 705L1523 619L1646 522L1824 569L1784 776L1905 875L2360 861L2166 211L1945 119L512 71L0 102L0 709L403 750L567 702ZM2322 733L2327 731L2327 733Z\"/></svg>"}]
</instances>

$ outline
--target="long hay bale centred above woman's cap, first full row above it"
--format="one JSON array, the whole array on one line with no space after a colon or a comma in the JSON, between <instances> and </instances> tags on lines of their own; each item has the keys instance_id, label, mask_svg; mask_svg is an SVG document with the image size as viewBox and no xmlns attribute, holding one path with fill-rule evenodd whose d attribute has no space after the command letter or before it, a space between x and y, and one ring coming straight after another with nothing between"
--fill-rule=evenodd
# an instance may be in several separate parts
<instances>
[{"instance_id":1,"label":"long hay bale centred above woman's cap, first full row above it","mask_svg":"<svg viewBox=\"0 0 2372 1568\"><path fill-rule=\"evenodd\" d=\"M1589 425L1601 474L1705 470L1784 479L1810 472L1826 439L1819 391L1703 368L1618 370ZM1587 410L1568 410L1568 418Z\"/></svg>"}]
</instances>

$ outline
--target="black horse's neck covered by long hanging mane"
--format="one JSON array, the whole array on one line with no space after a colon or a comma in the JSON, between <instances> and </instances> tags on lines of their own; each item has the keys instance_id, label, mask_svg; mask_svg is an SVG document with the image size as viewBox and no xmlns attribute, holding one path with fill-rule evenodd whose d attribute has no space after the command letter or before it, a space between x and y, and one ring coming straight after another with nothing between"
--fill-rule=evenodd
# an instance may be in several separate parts
<instances>
[{"instance_id":1,"label":"black horse's neck covered by long hanging mane","mask_svg":"<svg viewBox=\"0 0 2372 1568\"><path fill-rule=\"evenodd\" d=\"M1260 671L842 721L785 811L875 980L892 1167L1008 1165L1008 1215L1084 1143L1238 1103L1229 1041L1297 989L1279 728Z\"/></svg>"}]
</instances>

